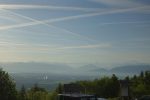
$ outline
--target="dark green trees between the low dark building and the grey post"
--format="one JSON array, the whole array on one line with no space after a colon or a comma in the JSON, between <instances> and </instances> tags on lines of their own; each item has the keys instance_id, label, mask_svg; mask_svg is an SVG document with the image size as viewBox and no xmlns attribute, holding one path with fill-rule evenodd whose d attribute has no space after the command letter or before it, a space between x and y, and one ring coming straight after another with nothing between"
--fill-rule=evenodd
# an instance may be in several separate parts
<instances>
[{"instance_id":1,"label":"dark green trees between the low dark building and the grey post","mask_svg":"<svg viewBox=\"0 0 150 100\"><path fill-rule=\"evenodd\" d=\"M76 83L85 88L83 93L96 94L105 98L119 96L119 80L114 74L111 78L103 77L94 81L78 81Z\"/></svg>"}]
</instances>

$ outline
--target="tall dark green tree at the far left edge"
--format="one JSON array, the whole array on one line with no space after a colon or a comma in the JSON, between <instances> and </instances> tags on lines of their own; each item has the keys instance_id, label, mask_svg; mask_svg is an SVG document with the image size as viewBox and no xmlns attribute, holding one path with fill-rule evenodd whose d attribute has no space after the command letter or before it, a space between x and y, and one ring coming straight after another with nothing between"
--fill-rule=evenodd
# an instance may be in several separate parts
<instances>
[{"instance_id":1,"label":"tall dark green tree at the far left edge","mask_svg":"<svg viewBox=\"0 0 150 100\"><path fill-rule=\"evenodd\" d=\"M16 100L17 91L15 82L9 74L0 69L0 100Z\"/></svg>"}]
</instances>

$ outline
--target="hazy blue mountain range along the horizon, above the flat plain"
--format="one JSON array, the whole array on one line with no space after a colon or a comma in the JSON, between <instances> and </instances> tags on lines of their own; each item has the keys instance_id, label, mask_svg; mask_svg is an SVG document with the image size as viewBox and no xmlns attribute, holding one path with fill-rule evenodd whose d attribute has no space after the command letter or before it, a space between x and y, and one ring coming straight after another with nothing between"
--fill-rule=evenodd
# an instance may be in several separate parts
<instances>
[{"instance_id":1,"label":"hazy blue mountain range along the horizon, above the flat plain","mask_svg":"<svg viewBox=\"0 0 150 100\"><path fill-rule=\"evenodd\" d=\"M87 64L81 67L70 67L67 64L49 64L40 62L16 62L1 63L0 66L9 73L52 73L52 74L73 74L73 75L97 75L112 73L138 74L141 71L150 70L149 64L133 64L105 69L94 64Z\"/></svg>"}]
</instances>

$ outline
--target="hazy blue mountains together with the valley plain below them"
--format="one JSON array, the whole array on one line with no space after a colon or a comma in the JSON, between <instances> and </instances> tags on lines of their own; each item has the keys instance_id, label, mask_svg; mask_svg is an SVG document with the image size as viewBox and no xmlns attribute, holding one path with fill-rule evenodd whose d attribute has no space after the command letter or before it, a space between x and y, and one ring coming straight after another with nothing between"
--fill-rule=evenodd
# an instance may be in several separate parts
<instances>
[{"instance_id":1,"label":"hazy blue mountains together with the valley plain below them","mask_svg":"<svg viewBox=\"0 0 150 100\"><path fill-rule=\"evenodd\" d=\"M119 78L129 75L139 74L141 71L150 71L148 64L134 64L117 66L111 69L105 69L94 64L87 64L81 67L70 67L67 64L49 64L37 62L19 62L19 63L1 63L5 71L16 82L17 89L22 85L26 88L32 87L38 83L41 87L52 90L56 88L59 82L68 83L77 80L93 80L104 76L116 74Z\"/></svg>"}]
</instances>

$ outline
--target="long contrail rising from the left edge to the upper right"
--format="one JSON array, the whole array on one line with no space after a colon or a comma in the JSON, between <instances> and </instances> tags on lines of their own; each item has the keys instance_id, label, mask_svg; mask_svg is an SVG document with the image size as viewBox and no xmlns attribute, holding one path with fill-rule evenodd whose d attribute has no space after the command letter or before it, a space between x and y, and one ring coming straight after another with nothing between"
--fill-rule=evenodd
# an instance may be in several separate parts
<instances>
[{"instance_id":1,"label":"long contrail rising from the left edge to the upper right","mask_svg":"<svg viewBox=\"0 0 150 100\"><path fill-rule=\"evenodd\" d=\"M100 15L123 13L123 12L128 12L128 11L135 11L135 10L139 10L139 9L144 9L144 8L149 8L149 6L137 7L137 8L128 8L128 9L117 9L117 10L111 10L111 11L106 11L106 12L94 12L94 13L88 13L88 14L83 14L83 15L61 17L61 18L42 20L42 21L36 21L36 22L21 23L21 24L10 25L10 26L2 26L2 27L0 27L0 30L6 30L6 29L12 29L12 28L21 28L21 27L39 25L39 24L43 24L43 23L54 23L54 22L74 20L74 19L86 18L86 17L94 17L94 16L100 16Z\"/></svg>"}]
</instances>

